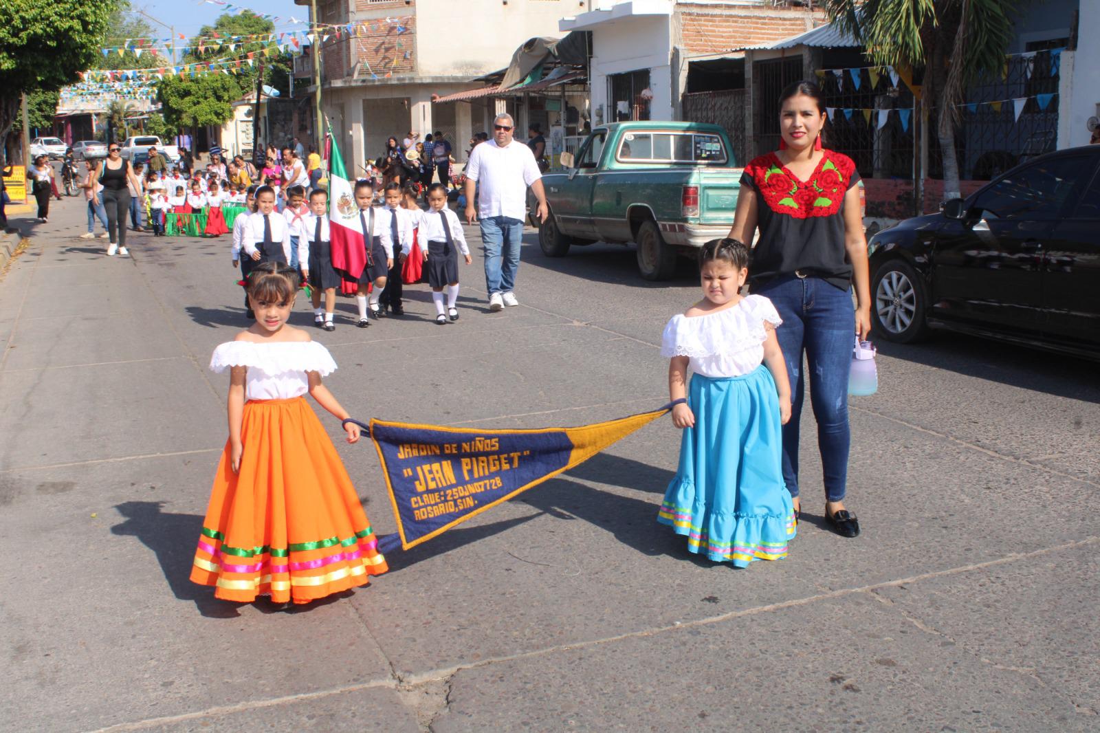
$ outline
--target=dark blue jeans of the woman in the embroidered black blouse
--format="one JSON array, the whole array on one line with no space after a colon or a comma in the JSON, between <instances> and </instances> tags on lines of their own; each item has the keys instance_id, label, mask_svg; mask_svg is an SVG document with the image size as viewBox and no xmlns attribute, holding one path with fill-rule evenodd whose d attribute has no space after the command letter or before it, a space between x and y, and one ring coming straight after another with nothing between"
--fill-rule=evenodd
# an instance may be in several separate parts
<instances>
[{"instance_id":1,"label":"dark blue jeans of the woman in the embroidered black blouse","mask_svg":"<svg viewBox=\"0 0 1100 733\"><path fill-rule=\"evenodd\" d=\"M856 341L851 292L817 277L782 275L752 292L769 298L783 325L776 329L791 380L791 420L783 426L783 481L799 495L799 417L805 397L802 355L810 374L810 404L817 419L825 499L844 499L848 481L848 374Z\"/></svg>"}]
</instances>

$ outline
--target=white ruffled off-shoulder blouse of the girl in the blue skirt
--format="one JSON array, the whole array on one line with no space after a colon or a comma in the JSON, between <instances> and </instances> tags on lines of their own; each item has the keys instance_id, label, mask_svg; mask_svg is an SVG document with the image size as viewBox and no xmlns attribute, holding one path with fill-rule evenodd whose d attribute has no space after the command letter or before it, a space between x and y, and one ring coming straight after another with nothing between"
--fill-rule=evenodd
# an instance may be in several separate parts
<instances>
[{"instance_id":1,"label":"white ruffled off-shoulder blouse of the girl in the blue skirt","mask_svg":"<svg viewBox=\"0 0 1100 733\"><path fill-rule=\"evenodd\" d=\"M782 322L771 300L749 295L725 310L673 316L661 337L661 355L688 357L691 370L703 376L740 376L763 361L766 324Z\"/></svg>"}]
</instances>

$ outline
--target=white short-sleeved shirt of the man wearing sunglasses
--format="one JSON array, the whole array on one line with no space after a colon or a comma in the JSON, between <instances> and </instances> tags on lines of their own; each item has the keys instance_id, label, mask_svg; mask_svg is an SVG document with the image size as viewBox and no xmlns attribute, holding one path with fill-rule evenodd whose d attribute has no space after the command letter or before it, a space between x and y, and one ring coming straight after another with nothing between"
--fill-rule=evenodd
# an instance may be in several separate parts
<instances>
[{"instance_id":1,"label":"white short-sleeved shirt of the man wearing sunglasses","mask_svg":"<svg viewBox=\"0 0 1100 733\"><path fill-rule=\"evenodd\" d=\"M527 187L542 177L535 153L513 140L501 147L495 140L483 142L470 153L466 178L477 182L477 212L482 219L527 216Z\"/></svg>"}]
</instances>

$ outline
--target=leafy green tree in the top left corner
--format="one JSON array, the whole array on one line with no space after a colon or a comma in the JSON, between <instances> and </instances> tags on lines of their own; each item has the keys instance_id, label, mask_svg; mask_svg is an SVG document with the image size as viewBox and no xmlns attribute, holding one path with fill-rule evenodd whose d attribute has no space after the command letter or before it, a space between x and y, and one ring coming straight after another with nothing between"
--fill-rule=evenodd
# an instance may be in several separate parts
<instances>
[{"instance_id":1,"label":"leafy green tree in the top left corner","mask_svg":"<svg viewBox=\"0 0 1100 733\"><path fill-rule=\"evenodd\" d=\"M7 142L23 92L57 91L102 57L114 7L116 0L0 2L0 141Z\"/></svg>"}]
</instances>

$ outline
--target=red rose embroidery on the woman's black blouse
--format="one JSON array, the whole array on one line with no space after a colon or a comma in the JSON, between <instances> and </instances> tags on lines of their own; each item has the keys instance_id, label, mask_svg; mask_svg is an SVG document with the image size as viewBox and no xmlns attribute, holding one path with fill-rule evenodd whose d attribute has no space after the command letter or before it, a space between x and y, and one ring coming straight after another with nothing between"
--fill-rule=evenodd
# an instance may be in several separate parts
<instances>
[{"instance_id":1,"label":"red rose embroidery on the woman's black blouse","mask_svg":"<svg viewBox=\"0 0 1100 733\"><path fill-rule=\"evenodd\" d=\"M754 160L745 167L757 190L776 214L795 219L833 216L840 210L856 164L847 155L825 151L810 180L791 175L774 153Z\"/></svg>"}]
</instances>

